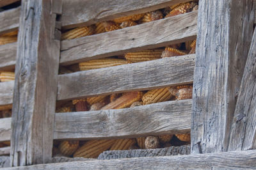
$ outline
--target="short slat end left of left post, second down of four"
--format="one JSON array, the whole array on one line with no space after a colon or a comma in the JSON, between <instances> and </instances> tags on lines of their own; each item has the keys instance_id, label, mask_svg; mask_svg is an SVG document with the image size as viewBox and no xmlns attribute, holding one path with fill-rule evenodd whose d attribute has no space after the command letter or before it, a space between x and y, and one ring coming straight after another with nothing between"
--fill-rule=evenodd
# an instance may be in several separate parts
<instances>
[{"instance_id":1,"label":"short slat end left of left post, second down of four","mask_svg":"<svg viewBox=\"0 0 256 170\"><path fill-rule=\"evenodd\" d=\"M0 45L0 70L13 70L16 63L17 43Z\"/></svg>"}]
</instances>

